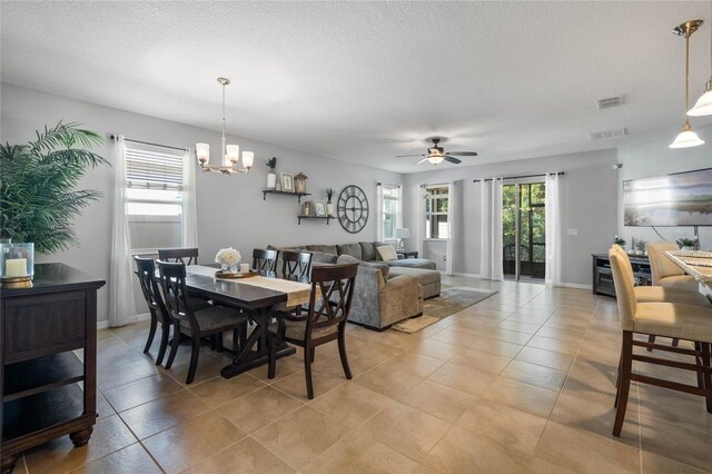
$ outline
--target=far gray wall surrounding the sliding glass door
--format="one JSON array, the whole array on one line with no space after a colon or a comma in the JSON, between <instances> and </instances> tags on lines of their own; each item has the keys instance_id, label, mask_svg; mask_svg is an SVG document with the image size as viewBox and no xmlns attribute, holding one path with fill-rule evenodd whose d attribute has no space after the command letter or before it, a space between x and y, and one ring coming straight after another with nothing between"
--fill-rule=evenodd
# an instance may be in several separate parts
<instances>
[{"instance_id":1,"label":"far gray wall surrounding the sliding glass door","mask_svg":"<svg viewBox=\"0 0 712 474\"><path fill-rule=\"evenodd\" d=\"M475 158L476 159L476 158ZM459 181L462 224L456 230L454 270L479 274L479 192L473 179L493 176L522 176L565 171L561 179L562 195L562 282L570 285L591 285L591 254L604 251L616 233L617 176L613 169L615 150L601 150L544 158L532 158L466 168L427 168L427 171L406 176L407 204L405 225L414 235L417 228L417 199L421 185ZM567 235L576 229L578 235ZM434 257L445 253L439 243L427 245L424 251ZM416 240L409 239L408 247Z\"/></svg>"}]
</instances>

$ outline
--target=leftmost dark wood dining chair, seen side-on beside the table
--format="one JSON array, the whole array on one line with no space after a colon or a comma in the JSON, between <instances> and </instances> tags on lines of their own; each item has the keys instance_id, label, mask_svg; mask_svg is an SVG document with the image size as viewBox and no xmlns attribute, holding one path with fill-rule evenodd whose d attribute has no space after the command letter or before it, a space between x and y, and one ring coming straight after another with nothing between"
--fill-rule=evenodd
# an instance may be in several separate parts
<instances>
[{"instance_id":1,"label":"leftmost dark wood dining chair, seen side-on beside the table","mask_svg":"<svg viewBox=\"0 0 712 474\"><path fill-rule=\"evenodd\" d=\"M136 275L138 276L138 280L141 284L141 292L144 293L144 298L146 298L148 312L151 316L151 325L148 330L148 339L146 340L144 353L147 353L151 347L151 344L154 344L156 328L158 327L158 323L160 323L160 346L158 348L158 356L156 357L156 365L160 365L164 362L166 348L168 347L168 337L170 336L170 327L172 326L172 320L170 318L170 315L168 314L166 304L164 303L164 297L158 289L158 282L156 282L156 266L154 265L154 259L134 257L134 260L136 261L137 267Z\"/></svg>"}]
</instances>

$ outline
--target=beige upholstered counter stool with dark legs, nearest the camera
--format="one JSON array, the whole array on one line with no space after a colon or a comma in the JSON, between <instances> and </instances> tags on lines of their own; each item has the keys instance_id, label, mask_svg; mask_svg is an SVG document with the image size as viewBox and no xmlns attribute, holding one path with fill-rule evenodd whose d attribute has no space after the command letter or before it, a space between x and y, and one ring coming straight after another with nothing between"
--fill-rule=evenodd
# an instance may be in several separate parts
<instances>
[{"instance_id":1,"label":"beige upholstered counter stool with dark legs, nearest the camera","mask_svg":"<svg viewBox=\"0 0 712 474\"><path fill-rule=\"evenodd\" d=\"M609 258L617 297L621 330L623 332L619 387L614 403L617 409L613 435L621 435L632 381L701 395L705 398L706 411L712 413L712 365L710 363L712 310L685 303L639 303L635 299L633 288L632 268L624 265L623 258L615 249L609 250ZM643 342L635 339L633 337L635 334L690 340L694 343L694 348L671 347ZM633 353L633 347L636 346L690 355L694 357L694 364ZM633 361L694 372L698 374L698 386L633 373Z\"/></svg>"}]
</instances>

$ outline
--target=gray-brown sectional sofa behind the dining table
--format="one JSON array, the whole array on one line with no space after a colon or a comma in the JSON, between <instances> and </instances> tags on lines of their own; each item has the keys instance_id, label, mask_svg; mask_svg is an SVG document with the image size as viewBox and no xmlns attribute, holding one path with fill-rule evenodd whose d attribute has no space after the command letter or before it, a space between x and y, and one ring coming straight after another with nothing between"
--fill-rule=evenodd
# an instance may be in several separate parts
<instances>
[{"instance_id":1,"label":"gray-brown sectional sofa behind the dining table","mask_svg":"<svg viewBox=\"0 0 712 474\"><path fill-rule=\"evenodd\" d=\"M425 258L384 261L376 250L382 245L387 244L270 245L268 248L308 250L312 253L312 265L359 261L348 319L382 330L394 323L421 315L423 299L441 293L441 274L435 270L434 261Z\"/></svg>"}]
</instances>

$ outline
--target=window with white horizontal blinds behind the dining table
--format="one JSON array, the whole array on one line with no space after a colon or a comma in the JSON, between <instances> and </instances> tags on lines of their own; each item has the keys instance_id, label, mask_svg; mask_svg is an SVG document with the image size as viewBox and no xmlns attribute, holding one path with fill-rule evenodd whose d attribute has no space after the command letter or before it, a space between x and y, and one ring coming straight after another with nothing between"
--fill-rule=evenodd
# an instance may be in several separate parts
<instances>
[{"instance_id":1,"label":"window with white horizontal blinds behind the dining table","mask_svg":"<svg viewBox=\"0 0 712 474\"><path fill-rule=\"evenodd\" d=\"M126 148L126 209L131 250L184 247L184 152Z\"/></svg>"}]
</instances>

